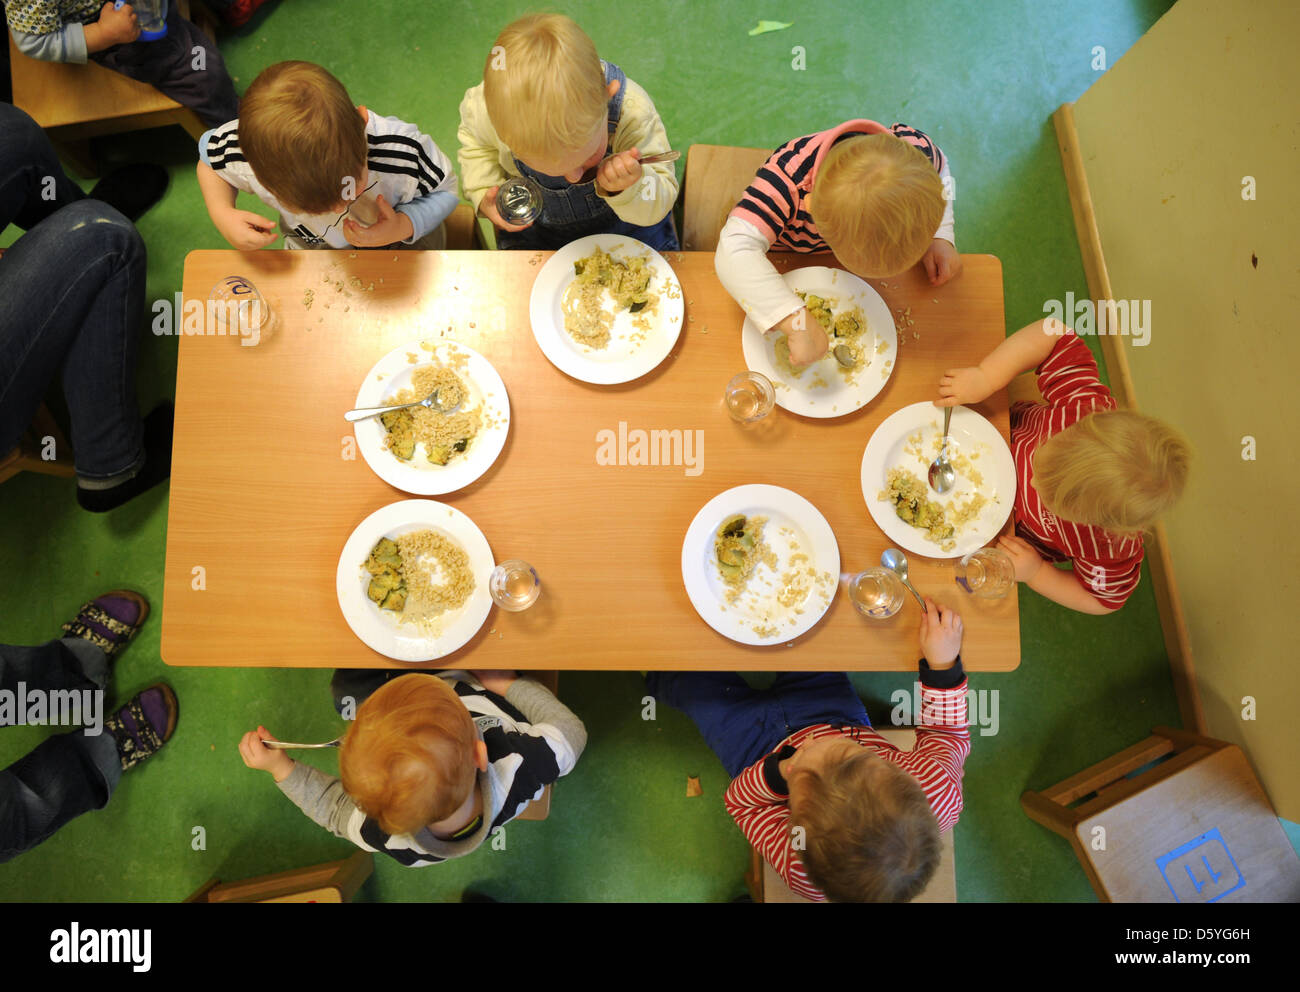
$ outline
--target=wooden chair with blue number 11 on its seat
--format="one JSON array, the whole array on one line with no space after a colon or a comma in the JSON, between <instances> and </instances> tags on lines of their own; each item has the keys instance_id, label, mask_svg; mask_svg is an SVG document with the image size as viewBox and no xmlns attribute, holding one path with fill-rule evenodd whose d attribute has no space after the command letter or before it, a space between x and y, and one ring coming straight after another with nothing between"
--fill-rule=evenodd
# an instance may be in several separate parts
<instances>
[{"instance_id":1,"label":"wooden chair with blue number 11 on its seat","mask_svg":"<svg viewBox=\"0 0 1300 992\"><path fill-rule=\"evenodd\" d=\"M1104 902L1300 902L1300 858L1234 744L1156 727L1020 806Z\"/></svg>"}]
</instances>

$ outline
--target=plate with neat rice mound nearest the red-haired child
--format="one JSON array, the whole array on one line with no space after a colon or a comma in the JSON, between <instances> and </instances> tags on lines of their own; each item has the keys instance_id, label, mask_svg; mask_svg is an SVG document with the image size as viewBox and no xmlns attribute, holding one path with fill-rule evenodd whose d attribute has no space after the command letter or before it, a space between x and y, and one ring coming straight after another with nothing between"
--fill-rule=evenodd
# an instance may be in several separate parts
<instances>
[{"instance_id":1,"label":"plate with neat rice mound nearest the red-haired child","mask_svg":"<svg viewBox=\"0 0 1300 992\"><path fill-rule=\"evenodd\" d=\"M403 499L376 510L343 545L335 592L352 633L398 662L468 642L491 611L488 538L455 507Z\"/></svg>"}]
</instances>

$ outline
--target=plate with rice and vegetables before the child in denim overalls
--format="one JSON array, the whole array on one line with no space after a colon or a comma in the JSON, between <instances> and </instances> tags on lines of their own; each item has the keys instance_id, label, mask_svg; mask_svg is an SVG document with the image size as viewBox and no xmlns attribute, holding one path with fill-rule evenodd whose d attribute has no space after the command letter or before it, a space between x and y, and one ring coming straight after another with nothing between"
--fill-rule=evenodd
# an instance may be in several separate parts
<instances>
[{"instance_id":1,"label":"plate with rice and vegetables before the child in denim overalls","mask_svg":"<svg viewBox=\"0 0 1300 992\"><path fill-rule=\"evenodd\" d=\"M533 282L533 337L560 372L595 385L656 368L681 334L681 283L634 238L593 234L555 252Z\"/></svg>"}]
</instances>

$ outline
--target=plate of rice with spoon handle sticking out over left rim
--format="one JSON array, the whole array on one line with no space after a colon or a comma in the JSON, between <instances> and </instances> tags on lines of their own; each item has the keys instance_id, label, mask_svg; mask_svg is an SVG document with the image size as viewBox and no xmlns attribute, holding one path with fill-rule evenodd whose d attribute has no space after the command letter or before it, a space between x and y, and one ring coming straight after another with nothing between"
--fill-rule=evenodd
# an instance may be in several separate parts
<instances>
[{"instance_id":1,"label":"plate of rice with spoon handle sticking out over left rim","mask_svg":"<svg viewBox=\"0 0 1300 992\"><path fill-rule=\"evenodd\" d=\"M484 475L510 433L510 397L497 369L455 341L412 341L365 374L358 407L398 406L439 390L450 413L412 407L354 425L365 463L391 486L417 495L463 489Z\"/></svg>"}]
</instances>

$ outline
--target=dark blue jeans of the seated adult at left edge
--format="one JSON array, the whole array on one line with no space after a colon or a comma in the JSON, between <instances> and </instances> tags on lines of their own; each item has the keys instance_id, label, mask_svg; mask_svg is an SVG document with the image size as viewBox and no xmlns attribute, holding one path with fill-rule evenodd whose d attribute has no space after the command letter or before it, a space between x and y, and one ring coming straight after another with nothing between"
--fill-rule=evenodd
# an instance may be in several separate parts
<instances>
[{"instance_id":1,"label":"dark blue jeans of the seated adult at left edge","mask_svg":"<svg viewBox=\"0 0 1300 992\"><path fill-rule=\"evenodd\" d=\"M64 176L35 121L0 104L0 230L9 224L27 233L0 257L0 454L61 376L77 473L105 480L139 468L144 242Z\"/></svg>"}]
</instances>

